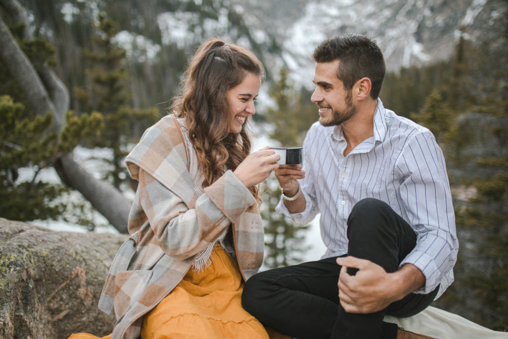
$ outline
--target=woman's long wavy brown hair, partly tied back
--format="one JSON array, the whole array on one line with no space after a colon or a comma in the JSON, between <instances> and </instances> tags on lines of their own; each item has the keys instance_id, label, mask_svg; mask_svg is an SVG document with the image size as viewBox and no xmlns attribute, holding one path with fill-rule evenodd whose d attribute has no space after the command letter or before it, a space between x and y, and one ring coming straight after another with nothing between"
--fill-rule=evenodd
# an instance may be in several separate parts
<instances>
[{"instance_id":1,"label":"woman's long wavy brown hair, partly tied back","mask_svg":"<svg viewBox=\"0 0 508 339\"><path fill-rule=\"evenodd\" d=\"M249 155L250 139L243 124L231 133L231 111L227 92L240 84L248 73L261 79L265 69L248 49L220 39L205 41L184 73L182 89L170 112L187 121L190 142L203 171L203 188L210 186L226 170L236 167ZM258 201L258 187L249 187Z\"/></svg>"}]
</instances>

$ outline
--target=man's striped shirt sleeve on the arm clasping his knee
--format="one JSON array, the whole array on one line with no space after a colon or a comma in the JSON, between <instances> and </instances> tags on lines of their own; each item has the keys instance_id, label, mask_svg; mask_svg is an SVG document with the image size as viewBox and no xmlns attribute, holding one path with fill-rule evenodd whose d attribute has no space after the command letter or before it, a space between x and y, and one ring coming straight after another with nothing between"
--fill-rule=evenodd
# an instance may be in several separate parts
<instances>
[{"instance_id":1,"label":"man's striped shirt sleeve on the arm clasping his knee","mask_svg":"<svg viewBox=\"0 0 508 339\"><path fill-rule=\"evenodd\" d=\"M458 240L452 194L441 149L431 133L416 135L398 159L403 178L400 196L409 224L417 235L415 249L401 262L418 267L425 286L416 293L433 291L457 261ZM450 281L448 281L450 283Z\"/></svg>"}]
</instances>

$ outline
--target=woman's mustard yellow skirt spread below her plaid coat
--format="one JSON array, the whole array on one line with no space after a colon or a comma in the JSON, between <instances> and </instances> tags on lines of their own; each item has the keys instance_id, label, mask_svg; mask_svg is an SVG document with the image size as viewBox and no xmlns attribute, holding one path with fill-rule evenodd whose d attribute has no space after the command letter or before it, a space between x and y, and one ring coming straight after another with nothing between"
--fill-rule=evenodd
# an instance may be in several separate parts
<instances>
[{"instance_id":1,"label":"woman's mustard yellow skirt spread below her plaid coat","mask_svg":"<svg viewBox=\"0 0 508 339\"><path fill-rule=\"evenodd\" d=\"M210 260L204 271L189 269L173 291L143 318L142 339L289 338L267 331L243 309L238 265L220 244L213 246ZM97 336L76 333L70 338Z\"/></svg>"}]
</instances>

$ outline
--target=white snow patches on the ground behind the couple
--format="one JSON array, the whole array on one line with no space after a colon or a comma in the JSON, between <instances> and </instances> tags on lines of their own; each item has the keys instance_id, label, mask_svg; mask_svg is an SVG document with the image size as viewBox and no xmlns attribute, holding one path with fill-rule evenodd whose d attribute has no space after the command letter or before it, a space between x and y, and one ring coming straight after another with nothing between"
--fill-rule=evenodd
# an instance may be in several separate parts
<instances>
[{"instance_id":1,"label":"white snow patches on the ground behind the couple","mask_svg":"<svg viewBox=\"0 0 508 339\"><path fill-rule=\"evenodd\" d=\"M251 129L260 131L260 129L253 126ZM254 134L252 137L252 150L258 150L265 146L276 146L276 144L274 144L273 141L270 141L270 139L266 137L266 133L263 133L262 131L260 131L259 135ZM83 147L76 147L74 150L74 157L76 161L90 173L93 173L93 175L97 178L100 178L102 175L101 173L104 173L107 170L107 165L105 165L105 162L101 161L100 158L108 158L109 156L110 154L108 149L87 149ZM33 175L33 170L30 168L23 168L20 169L19 174L19 180L28 179L31 178L31 175ZM38 179L48 182L59 182L58 176L53 168L42 170L38 175ZM133 194L128 193L127 195L128 198L132 199ZM86 203L78 192L71 192L63 199L78 203ZM117 233L116 229L109 225L108 221L100 213L92 212L92 214L89 215L89 218L92 219L96 225L93 232ZM43 226L55 231L87 232L86 228L72 222L36 220L31 222L31 224ZM319 216L311 223L311 226L306 234L304 245L309 248L309 250L303 255L305 261L317 260L325 253L326 248L321 240L319 230Z\"/></svg>"}]
</instances>

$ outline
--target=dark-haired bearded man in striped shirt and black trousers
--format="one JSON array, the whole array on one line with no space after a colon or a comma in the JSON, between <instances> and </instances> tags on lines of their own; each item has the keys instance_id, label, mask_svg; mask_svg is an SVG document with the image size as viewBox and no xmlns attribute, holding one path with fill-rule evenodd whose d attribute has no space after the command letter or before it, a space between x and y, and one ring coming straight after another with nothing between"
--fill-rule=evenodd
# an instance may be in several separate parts
<instances>
[{"instance_id":1,"label":"dark-haired bearded man in striped shirt and black trousers","mask_svg":"<svg viewBox=\"0 0 508 339\"><path fill-rule=\"evenodd\" d=\"M427 337L383 318L421 312L453 282L458 241L441 149L378 99L385 61L374 41L335 37L312 58L320 118L303 144L305 171L275 171L277 210L303 225L321 213L327 251L252 276L243 306L300 339Z\"/></svg>"}]
</instances>

